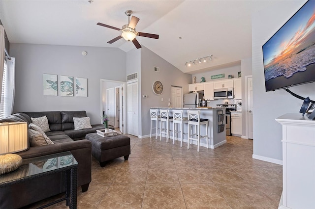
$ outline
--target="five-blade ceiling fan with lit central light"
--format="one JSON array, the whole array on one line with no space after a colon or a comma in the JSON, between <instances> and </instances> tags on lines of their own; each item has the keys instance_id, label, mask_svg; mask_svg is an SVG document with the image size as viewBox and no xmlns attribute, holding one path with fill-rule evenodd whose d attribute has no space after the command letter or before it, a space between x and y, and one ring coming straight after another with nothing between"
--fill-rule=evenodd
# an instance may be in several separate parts
<instances>
[{"instance_id":1,"label":"five-blade ceiling fan with lit central light","mask_svg":"<svg viewBox=\"0 0 315 209\"><path fill-rule=\"evenodd\" d=\"M141 45L139 44L139 42L136 39L136 36L143 36L143 37L148 37L148 38L155 38L158 39L158 35L157 34L152 34L152 33L142 33L142 32L136 32L136 25L139 22L139 18L132 16L131 20L130 20L130 15L132 14L131 10L127 10L125 12L125 14L128 16L128 24L124 25L122 27L122 29L118 28L118 27L114 27L114 26L108 26L102 23L97 23L98 26L104 26L104 27L108 27L108 28L112 28L114 30L119 30L122 31L122 34L117 36L116 38L108 41L107 43L112 44L115 41L118 41L121 38L124 38L126 41L132 41L132 43L134 44L134 46L139 49L141 48Z\"/></svg>"}]
</instances>

